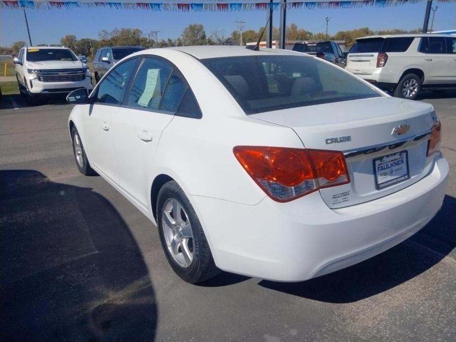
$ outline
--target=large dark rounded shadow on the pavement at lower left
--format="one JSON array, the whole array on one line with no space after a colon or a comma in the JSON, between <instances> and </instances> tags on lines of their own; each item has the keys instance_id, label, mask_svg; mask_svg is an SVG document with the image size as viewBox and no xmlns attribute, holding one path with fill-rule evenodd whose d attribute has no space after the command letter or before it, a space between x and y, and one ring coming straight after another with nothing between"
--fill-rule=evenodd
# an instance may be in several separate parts
<instances>
[{"instance_id":1,"label":"large dark rounded shadow on the pavement at lower left","mask_svg":"<svg viewBox=\"0 0 456 342\"><path fill-rule=\"evenodd\" d=\"M8 170L0 210L1 341L154 340L147 267L104 197Z\"/></svg>"}]
</instances>

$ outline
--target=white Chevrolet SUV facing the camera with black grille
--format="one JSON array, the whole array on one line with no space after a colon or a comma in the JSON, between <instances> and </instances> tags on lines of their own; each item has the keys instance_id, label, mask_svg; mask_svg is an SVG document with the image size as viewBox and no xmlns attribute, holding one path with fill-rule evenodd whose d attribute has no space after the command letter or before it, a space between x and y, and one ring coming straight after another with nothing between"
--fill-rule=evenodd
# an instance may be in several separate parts
<instances>
[{"instance_id":1,"label":"white Chevrolet SUV facing the camera with black grille","mask_svg":"<svg viewBox=\"0 0 456 342\"><path fill-rule=\"evenodd\" d=\"M19 90L30 103L40 95L93 89L89 68L65 47L23 47L14 63Z\"/></svg>"}]
</instances>

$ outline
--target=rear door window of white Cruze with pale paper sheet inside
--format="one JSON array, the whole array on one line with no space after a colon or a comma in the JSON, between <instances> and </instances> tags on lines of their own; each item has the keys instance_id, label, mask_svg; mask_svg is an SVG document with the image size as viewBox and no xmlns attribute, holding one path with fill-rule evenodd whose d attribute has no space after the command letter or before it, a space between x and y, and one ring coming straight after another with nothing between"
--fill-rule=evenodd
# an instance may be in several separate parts
<instances>
[{"instance_id":1,"label":"rear door window of white Cruze with pale paper sheet inside","mask_svg":"<svg viewBox=\"0 0 456 342\"><path fill-rule=\"evenodd\" d=\"M168 63L145 58L128 94L128 106L159 109L173 68Z\"/></svg>"}]
</instances>

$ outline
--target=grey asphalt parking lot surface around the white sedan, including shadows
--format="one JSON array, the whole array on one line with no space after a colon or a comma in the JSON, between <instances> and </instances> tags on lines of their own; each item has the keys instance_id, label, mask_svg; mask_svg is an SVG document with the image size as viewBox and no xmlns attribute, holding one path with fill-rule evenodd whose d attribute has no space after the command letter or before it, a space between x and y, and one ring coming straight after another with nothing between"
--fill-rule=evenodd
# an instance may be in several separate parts
<instances>
[{"instance_id":1,"label":"grey asphalt parking lot surface around the white sedan, including shadows","mask_svg":"<svg viewBox=\"0 0 456 342\"><path fill-rule=\"evenodd\" d=\"M156 228L74 164L71 105L0 110L1 341L456 341L456 98L421 94L451 165L418 234L300 283L178 278ZM266 246L267 248L267 246Z\"/></svg>"}]
</instances>

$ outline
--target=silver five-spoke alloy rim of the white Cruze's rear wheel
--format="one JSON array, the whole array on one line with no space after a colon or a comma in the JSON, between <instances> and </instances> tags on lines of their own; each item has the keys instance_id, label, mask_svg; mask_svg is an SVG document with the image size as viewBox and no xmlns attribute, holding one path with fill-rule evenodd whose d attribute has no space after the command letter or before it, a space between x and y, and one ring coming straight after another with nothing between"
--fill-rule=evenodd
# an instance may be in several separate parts
<instances>
[{"instance_id":1,"label":"silver five-spoke alloy rim of the white Cruze's rear wheel","mask_svg":"<svg viewBox=\"0 0 456 342\"><path fill-rule=\"evenodd\" d=\"M189 267L194 256L192 226L185 209L174 198L168 199L163 205L162 229L175 262L180 267Z\"/></svg>"}]
</instances>

